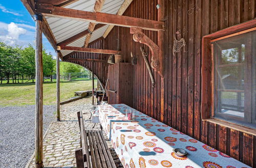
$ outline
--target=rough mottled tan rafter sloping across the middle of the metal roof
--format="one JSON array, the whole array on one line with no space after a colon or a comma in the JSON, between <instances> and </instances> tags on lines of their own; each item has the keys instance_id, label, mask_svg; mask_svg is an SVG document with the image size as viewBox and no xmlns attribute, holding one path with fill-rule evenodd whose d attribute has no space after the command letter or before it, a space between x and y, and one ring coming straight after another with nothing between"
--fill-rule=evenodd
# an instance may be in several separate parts
<instances>
[{"instance_id":1,"label":"rough mottled tan rafter sloping across the middle of the metal roof","mask_svg":"<svg viewBox=\"0 0 256 168\"><path fill-rule=\"evenodd\" d=\"M105 3L105 0L96 0L93 12L100 12L104 3ZM96 25L96 23L93 23L93 22L89 23L88 30L90 31L90 34L88 34L86 36L86 40L84 40L84 45L83 45L84 48L88 47L92 33L95 29L95 25Z\"/></svg>"}]
</instances>

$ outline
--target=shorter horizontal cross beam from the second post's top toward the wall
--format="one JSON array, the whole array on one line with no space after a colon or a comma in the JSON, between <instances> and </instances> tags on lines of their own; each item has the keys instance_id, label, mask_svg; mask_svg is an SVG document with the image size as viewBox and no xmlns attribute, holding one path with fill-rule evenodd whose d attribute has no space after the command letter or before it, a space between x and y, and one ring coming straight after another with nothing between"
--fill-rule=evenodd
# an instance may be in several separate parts
<instances>
[{"instance_id":1,"label":"shorter horizontal cross beam from the second post's top toward the wall","mask_svg":"<svg viewBox=\"0 0 256 168\"><path fill-rule=\"evenodd\" d=\"M105 54L120 54L121 51L110 49L96 49L96 48L83 48L73 46L59 46L62 50L80 51L80 52L93 52L93 53L105 53Z\"/></svg>"}]
</instances>

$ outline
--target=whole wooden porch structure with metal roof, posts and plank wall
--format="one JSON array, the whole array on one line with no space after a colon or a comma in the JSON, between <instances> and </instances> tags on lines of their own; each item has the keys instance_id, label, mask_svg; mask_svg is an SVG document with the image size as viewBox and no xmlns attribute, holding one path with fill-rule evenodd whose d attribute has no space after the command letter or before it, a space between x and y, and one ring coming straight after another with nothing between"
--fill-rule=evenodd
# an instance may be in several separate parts
<instances>
[{"instance_id":1,"label":"whole wooden porch structure with metal roof, posts and plank wall","mask_svg":"<svg viewBox=\"0 0 256 168\"><path fill-rule=\"evenodd\" d=\"M138 113L239 160L241 165L255 166L254 1L21 1L35 18L37 29L36 167L44 164L42 33L57 52L57 65L61 59L89 69L100 81L109 104L129 105ZM249 36L244 41L232 39L246 33ZM231 47L217 48L215 44L223 39L233 42ZM243 46L248 50L244 54ZM221 55L222 50L230 48L240 48L238 55L246 57L246 63L239 59L235 66L247 65L245 76L251 78L242 79L242 74L236 74L241 78L239 86L247 89L215 86L215 65L230 65L215 62L219 56L214 50L219 49ZM57 120L61 122L58 83L59 80ZM244 117L239 112L240 118L235 114L230 118L221 114L219 118L217 110L222 108L216 104L221 99L218 94L223 92L239 95L237 104L225 108L228 113L240 110ZM245 104L241 103L240 93L248 100Z\"/></svg>"}]
</instances>

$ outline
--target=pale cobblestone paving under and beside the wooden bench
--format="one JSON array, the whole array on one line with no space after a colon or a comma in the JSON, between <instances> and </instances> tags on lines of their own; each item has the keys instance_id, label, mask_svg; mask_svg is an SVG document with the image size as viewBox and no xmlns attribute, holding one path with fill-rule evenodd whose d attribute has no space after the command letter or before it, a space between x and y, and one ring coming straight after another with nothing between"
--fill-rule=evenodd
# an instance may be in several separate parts
<instances>
[{"instance_id":1,"label":"pale cobblestone paving under and beside the wooden bench","mask_svg":"<svg viewBox=\"0 0 256 168\"><path fill-rule=\"evenodd\" d=\"M87 121L90 118L91 97L86 97L60 106L60 122L54 121L44 138L44 166L45 167L76 167L75 150L80 147L80 131L77 121L77 111L82 111L85 129L100 129L100 124ZM117 167L122 167L109 141ZM34 159L29 167L34 167Z\"/></svg>"}]
</instances>

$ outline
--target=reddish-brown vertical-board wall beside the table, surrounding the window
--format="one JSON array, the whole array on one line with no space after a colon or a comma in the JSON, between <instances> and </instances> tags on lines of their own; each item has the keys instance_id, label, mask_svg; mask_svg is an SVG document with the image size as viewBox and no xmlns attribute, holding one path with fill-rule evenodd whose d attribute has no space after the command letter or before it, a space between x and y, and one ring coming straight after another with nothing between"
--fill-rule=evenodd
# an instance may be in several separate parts
<instances>
[{"instance_id":1,"label":"reddish-brown vertical-board wall beside the table, surrounding the window","mask_svg":"<svg viewBox=\"0 0 256 168\"><path fill-rule=\"evenodd\" d=\"M125 16L157 20L157 0L134 0ZM160 120L160 89L164 88L164 123L186 133L249 166L256 166L256 137L217 124L203 122L201 103L201 40L204 35L255 18L254 0L165 0L166 33L163 44L164 85L154 72L156 85L151 86L139 46L130 29L115 26L104 40L105 49L117 49L121 43L124 62L131 62L130 52L138 55L134 67L134 107ZM180 30L186 46L173 55L173 40ZM144 31L155 43L157 32ZM176 36L177 37L177 36ZM151 53L148 53L149 60Z\"/></svg>"}]
</instances>

